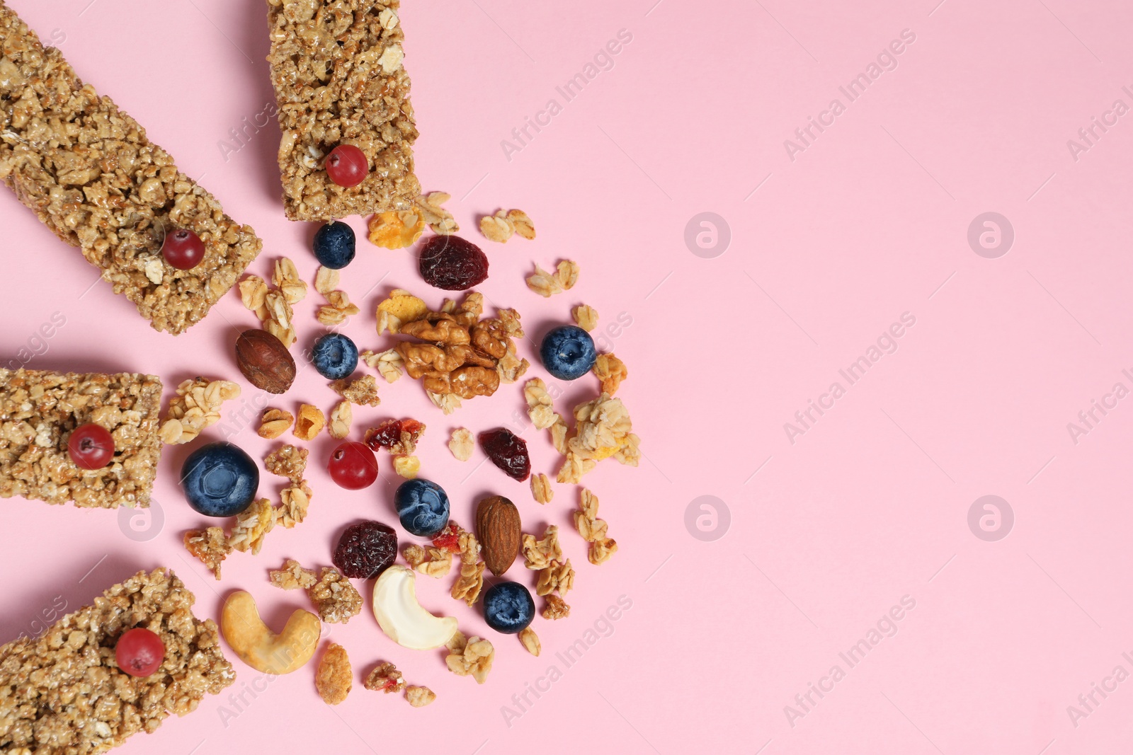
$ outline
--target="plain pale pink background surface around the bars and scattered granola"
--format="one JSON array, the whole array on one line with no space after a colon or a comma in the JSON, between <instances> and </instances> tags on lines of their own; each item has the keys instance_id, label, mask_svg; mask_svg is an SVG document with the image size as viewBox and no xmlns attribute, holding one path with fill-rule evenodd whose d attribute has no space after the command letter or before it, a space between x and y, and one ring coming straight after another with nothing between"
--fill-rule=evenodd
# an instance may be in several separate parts
<instances>
[{"instance_id":1,"label":"plain pale pink background surface around the bars and scattered granola","mask_svg":"<svg viewBox=\"0 0 1133 755\"><path fill-rule=\"evenodd\" d=\"M538 620L543 657L492 635L495 669L478 687L445 670L441 653L385 638L367 583L365 612L327 633L358 677L344 704L316 697L313 667L265 684L237 661L229 692L264 689L245 696L239 715L222 715L221 706L236 711L227 694L210 697L120 752L1126 752L1133 681L1106 698L1094 693L1100 704L1090 711L1077 698L1093 684L1113 689L1104 679L1117 666L1133 672L1122 655L1133 657L1124 599L1133 400L1076 444L1067 423L1115 383L1133 388L1122 374L1133 368L1124 306L1133 115L1076 161L1067 139L1115 100L1133 105L1122 91L1133 85L1133 9L1108 0L936 1L408 2L424 186L453 195L469 238L478 238L479 215L501 206L523 208L538 228L535 242L484 244L484 293L519 308L534 342L578 302L607 324L619 312L632 318L612 348L630 368L622 397L646 460L636 470L603 464L587 478L621 550L602 567L587 564L569 531L573 491L560 487L543 508L526 486L477 467L482 456L461 464L449 454L453 427L523 422L518 388L445 418L419 385L383 386L382 406L356 411L356 427L391 415L427 422L423 473L446 487L458 521L470 521L479 496L499 492L519 504L525 529L563 527L578 567L573 612ZM227 161L218 146L272 100L262 2L12 5L255 226L265 251L253 272L288 255L312 278L313 228L281 213L275 125ZM564 102L555 87L620 29L632 42L613 68ZM838 87L903 29L915 41L896 68L849 102ZM562 111L509 160L501 140L551 97ZM792 161L784 139L834 97L845 112ZM701 212L731 229L726 250L701 252L712 258L684 241ZM986 212L1006 216L1015 234L995 259L968 243L969 224ZM95 283L78 252L9 192L0 192L0 215L6 360L61 312L66 325L29 367L144 370L161 375L167 393L197 374L239 377L235 329L254 317L235 293L174 340ZM351 223L364 231L361 218ZM533 261L562 257L581 266L574 290L544 300L523 286ZM393 286L440 303L409 254L360 241L342 288L363 307L343 328L361 348L385 348L373 309ZM301 345L322 329L318 299L313 292L297 307ZM896 352L792 444L784 423L833 381L846 387L838 370L903 312L915 324ZM534 361L531 343L522 351ZM582 383L560 411L594 391L593 379ZM244 385L250 415L261 404ZM330 410L334 396L307 370L272 404L293 410L299 401ZM219 426L207 434L221 435ZM525 437L537 471L553 472L545 435L527 428ZM233 439L256 457L274 445L252 428ZM196 592L199 615L215 617L223 595L242 587L278 625L306 600L269 586L269 568L286 557L327 564L343 524L393 520L387 460L376 487L346 492L321 470L331 445L325 435L310 444L308 521L273 532L257 557L233 554L220 583L180 544L202 521L176 486L194 446L164 454L155 489L164 521L151 521L143 542L123 534L113 512L5 501L11 539L0 551L9 575L0 636L34 632L53 602L76 608L159 564ZM267 492L278 487L265 475ZM969 529L969 508L985 495L1014 513L998 541ZM685 524L700 496L722 501L715 530L712 512L693 507L692 520L709 515L708 532ZM533 582L522 569L511 575ZM419 578L423 602L483 634L477 612L446 595L450 582ZM570 668L556 660L596 621L605 627L600 618L622 595L632 608L610 636ZM903 597L915 607L881 620ZM896 633L850 668L840 653L879 620ZM436 703L412 710L361 689L380 659L432 687ZM550 664L562 678L509 726L502 706L514 709L512 695ZM823 678L835 664L844 678L830 689ZM828 692L811 693L803 709L795 695L811 683ZM787 705L804 715L789 717ZM1088 715L1072 720L1070 705Z\"/></svg>"}]
</instances>

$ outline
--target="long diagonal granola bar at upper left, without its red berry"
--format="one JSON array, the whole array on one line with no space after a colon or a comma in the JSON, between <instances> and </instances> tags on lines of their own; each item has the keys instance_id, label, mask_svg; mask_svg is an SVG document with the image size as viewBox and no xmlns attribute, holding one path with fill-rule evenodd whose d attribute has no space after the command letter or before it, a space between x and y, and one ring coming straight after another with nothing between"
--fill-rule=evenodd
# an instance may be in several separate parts
<instances>
[{"instance_id":1,"label":"long diagonal granola bar at upper left, without its red berry","mask_svg":"<svg viewBox=\"0 0 1133 755\"><path fill-rule=\"evenodd\" d=\"M3 0L0 179L157 331L181 333L202 319L262 247ZM161 255L173 228L205 243L193 269L176 269Z\"/></svg>"}]
</instances>

